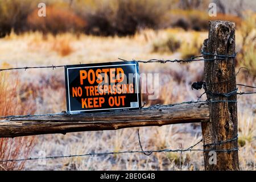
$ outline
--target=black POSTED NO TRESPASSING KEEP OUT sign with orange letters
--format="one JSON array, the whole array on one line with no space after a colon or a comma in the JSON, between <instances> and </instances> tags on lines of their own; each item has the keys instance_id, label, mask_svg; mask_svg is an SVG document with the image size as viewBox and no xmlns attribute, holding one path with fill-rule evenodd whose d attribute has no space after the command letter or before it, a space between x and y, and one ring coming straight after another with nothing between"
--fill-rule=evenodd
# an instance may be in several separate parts
<instances>
[{"instance_id":1,"label":"black POSTED NO TRESPASSING KEEP OUT sign with orange letters","mask_svg":"<svg viewBox=\"0 0 256 182\"><path fill-rule=\"evenodd\" d=\"M65 66L67 112L139 109L139 66L136 61Z\"/></svg>"}]
</instances>

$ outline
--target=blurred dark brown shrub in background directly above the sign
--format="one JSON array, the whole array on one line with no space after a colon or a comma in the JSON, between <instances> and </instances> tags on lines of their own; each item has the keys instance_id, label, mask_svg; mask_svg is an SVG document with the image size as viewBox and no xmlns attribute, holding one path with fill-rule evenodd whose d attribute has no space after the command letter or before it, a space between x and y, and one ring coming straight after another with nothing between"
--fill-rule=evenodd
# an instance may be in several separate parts
<instances>
[{"instance_id":1,"label":"blurred dark brown shrub in background directly above the sign","mask_svg":"<svg viewBox=\"0 0 256 182\"><path fill-rule=\"evenodd\" d=\"M86 32L89 34L122 36L133 35L139 28L159 27L168 8L166 3L156 0L98 0L76 2L73 9L88 23Z\"/></svg>"}]
</instances>

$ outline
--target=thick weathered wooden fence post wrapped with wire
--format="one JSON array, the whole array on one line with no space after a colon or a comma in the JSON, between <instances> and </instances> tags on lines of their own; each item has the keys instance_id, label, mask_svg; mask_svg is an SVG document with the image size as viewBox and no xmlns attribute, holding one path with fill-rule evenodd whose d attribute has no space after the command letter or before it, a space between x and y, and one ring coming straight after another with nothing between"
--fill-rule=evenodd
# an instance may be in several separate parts
<instances>
[{"instance_id":1,"label":"thick weathered wooden fence post wrapped with wire","mask_svg":"<svg viewBox=\"0 0 256 182\"><path fill-rule=\"evenodd\" d=\"M209 36L204 41L202 51L204 59L220 58L220 60L204 61L204 76L209 102L210 122L202 123L204 145L219 143L237 136L237 96L226 97L217 94L211 98L210 93L229 93L236 89L236 73L234 57L216 57L217 55L234 55L235 53L235 24L226 21L211 21ZM223 58L223 57L222 57ZM216 94L215 94L216 96ZM229 100L230 102L222 102ZM221 102L219 102L221 101ZM232 102L231 102L232 101ZM234 101L234 102L233 102ZM238 147L237 139L222 144L204 146L205 150L230 150ZM214 155L214 154L213 154ZM239 170L238 151L216 151L216 164L210 164L209 151L204 151L205 170Z\"/></svg>"}]
</instances>

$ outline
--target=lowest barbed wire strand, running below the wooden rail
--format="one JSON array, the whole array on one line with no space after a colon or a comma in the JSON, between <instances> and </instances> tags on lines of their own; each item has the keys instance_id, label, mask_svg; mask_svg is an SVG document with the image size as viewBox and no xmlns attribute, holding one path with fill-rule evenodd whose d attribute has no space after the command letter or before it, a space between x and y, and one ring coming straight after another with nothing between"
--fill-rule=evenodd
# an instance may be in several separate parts
<instances>
[{"instance_id":1,"label":"lowest barbed wire strand, running below the wooden rail","mask_svg":"<svg viewBox=\"0 0 256 182\"><path fill-rule=\"evenodd\" d=\"M163 150L147 150L144 151L142 144L141 144L141 138L139 137L139 130L137 130L138 140L139 140L139 146L141 147L141 151L119 151L119 152L92 152L92 153L86 153L86 154L75 154L75 155L57 155L57 156L45 156L45 157L31 157L31 158L23 158L23 159L6 159L6 160L0 160L0 163L7 163L7 162L21 162L21 161L27 161L27 160L42 160L42 159L58 159L58 158L75 158L75 157L82 157L82 156L99 156L99 155L117 155L117 154L144 154L144 155L151 155L153 153L161 153L161 152L192 152L192 151L216 151L216 152L232 152L232 151L238 151L239 148L230 148L230 149L224 149L224 150L216 150L216 149L193 149L196 147L199 143L203 143L203 139L199 140L199 142L196 142L192 146L188 147L187 149L163 149ZM232 142L233 140L237 140L237 136L233 139L222 141L222 143L228 143ZM217 145L218 143L209 143L209 145ZM203 146L204 147L204 146Z\"/></svg>"}]
</instances>

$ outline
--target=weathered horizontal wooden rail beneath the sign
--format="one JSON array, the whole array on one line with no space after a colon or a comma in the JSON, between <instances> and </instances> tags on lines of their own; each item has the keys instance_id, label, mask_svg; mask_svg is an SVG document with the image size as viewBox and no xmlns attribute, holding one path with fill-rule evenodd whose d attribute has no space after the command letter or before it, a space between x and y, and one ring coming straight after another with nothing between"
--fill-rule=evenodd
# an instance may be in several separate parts
<instances>
[{"instance_id":1,"label":"weathered horizontal wooden rail beneath the sign","mask_svg":"<svg viewBox=\"0 0 256 182\"><path fill-rule=\"evenodd\" d=\"M206 102L86 114L24 115L0 118L0 138L76 131L117 130L126 127L162 126L176 123L208 122Z\"/></svg>"}]
</instances>

